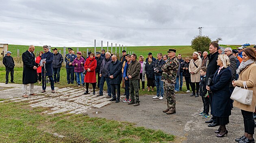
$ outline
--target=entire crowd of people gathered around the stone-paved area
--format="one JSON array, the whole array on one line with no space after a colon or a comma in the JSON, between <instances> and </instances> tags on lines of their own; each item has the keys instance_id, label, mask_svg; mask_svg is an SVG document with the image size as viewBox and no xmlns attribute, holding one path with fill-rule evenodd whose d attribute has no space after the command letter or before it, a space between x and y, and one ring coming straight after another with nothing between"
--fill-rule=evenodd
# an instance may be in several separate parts
<instances>
[{"instance_id":1,"label":"entire crowd of people gathered around the stone-paved area","mask_svg":"<svg viewBox=\"0 0 256 143\"><path fill-rule=\"evenodd\" d=\"M256 49L256 46L254 46ZM256 106L256 93L253 93L251 105L244 105L230 99L235 86L243 87L246 84L248 89L256 90L256 78L253 71L256 69L256 50L241 46L237 50L227 47L223 52L216 42L209 44L209 54L207 51L194 52L191 57L182 59L182 55L176 56L176 49L169 48L167 55L157 53L157 58L148 53L145 59L142 55L137 57L135 53L128 55L126 50L122 51L120 59L116 55L102 49L101 53L88 53L88 57L82 56L81 52L76 55L72 48L68 48L69 53L63 59L56 48L49 51L47 45L43 46L43 51L35 57L33 51L35 46L30 45L28 50L22 54L23 61L23 95L37 95L33 92L34 83L42 82L42 93L46 92L46 76L49 78L52 93L54 84L60 82L61 64L65 60L67 72L67 84L86 86L84 94L89 94L89 84L92 84L93 95L98 82L99 96L103 96L104 82L107 84L106 98L115 103L120 102L120 88L124 88L126 98L123 102L128 105L140 105L139 90L140 82L142 90L154 91L156 86L156 96L153 99L167 99L166 114L176 113L175 92L182 90L183 77L186 82L187 93L191 97L202 97L203 111L199 113L202 118L209 118L206 121L209 127L219 126L215 131L217 137L228 134L226 125L229 123L229 116L233 106L241 109L243 115L245 134L236 139L239 143L253 143L254 118L253 113ZM138 59L138 61L137 61ZM144 61L145 60L145 61ZM6 84L8 75L11 72L11 82L13 82L13 68L15 66L8 51L3 59L6 66ZM98 75L98 81L96 76ZM146 78L145 78L146 77ZM147 87L145 87L147 80ZM27 95L27 84L29 84L29 94ZM209 114L210 112L210 114Z\"/></svg>"}]
</instances>

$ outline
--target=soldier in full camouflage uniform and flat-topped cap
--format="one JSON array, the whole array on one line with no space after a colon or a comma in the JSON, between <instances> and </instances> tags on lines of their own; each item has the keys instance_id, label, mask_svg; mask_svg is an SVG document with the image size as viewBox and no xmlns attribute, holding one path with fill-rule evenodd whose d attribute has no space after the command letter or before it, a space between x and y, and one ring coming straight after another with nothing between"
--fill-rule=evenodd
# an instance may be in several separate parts
<instances>
[{"instance_id":1,"label":"soldier in full camouflage uniform and flat-topped cap","mask_svg":"<svg viewBox=\"0 0 256 143\"><path fill-rule=\"evenodd\" d=\"M167 99L167 109L163 110L163 112L169 115L176 113L176 97L174 95L174 88L176 83L179 62L175 57L176 49L169 48L167 53L169 59L162 67L162 81L164 82L164 95Z\"/></svg>"}]
</instances>

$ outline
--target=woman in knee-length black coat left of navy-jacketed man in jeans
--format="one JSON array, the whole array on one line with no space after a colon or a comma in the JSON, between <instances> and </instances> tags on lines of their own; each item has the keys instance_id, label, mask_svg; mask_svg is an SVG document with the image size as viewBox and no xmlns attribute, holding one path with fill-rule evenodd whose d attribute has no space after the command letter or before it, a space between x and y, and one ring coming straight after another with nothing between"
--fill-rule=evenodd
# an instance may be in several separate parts
<instances>
[{"instance_id":1,"label":"woman in knee-length black coat left of navy-jacketed man in jeans","mask_svg":"<svg viewBox=\"0 0 256 143\"><path fill-rule=\"evenodd\" d=\"M154 68L155 68L155 62L152 61L152 56L148 57L148 61L146 63L145 66L145 72L146 72L146 76L147 76L147 86L148 86L148 91L150 91L150 86L152 86L152 91L154 91L154 87L155 87L155 82L154 82L154 77L155 77L155 73L154 73Z\"/></svg>"}]
</instances>

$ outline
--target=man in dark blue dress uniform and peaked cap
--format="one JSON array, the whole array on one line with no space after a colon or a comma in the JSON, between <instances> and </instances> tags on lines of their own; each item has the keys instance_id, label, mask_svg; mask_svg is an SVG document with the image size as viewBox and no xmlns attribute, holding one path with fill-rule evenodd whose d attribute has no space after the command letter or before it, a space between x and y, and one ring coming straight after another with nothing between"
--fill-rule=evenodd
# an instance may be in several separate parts
<instances>
[{"instance_id":1,"label":"man in dark blue dress uniform and peaked cap","mask_svg":"<svg viewBox=\"0 0 256 143\"><path fill-rule=\"evenodd\" d=\"M66 62L66 70L67 70L67 84L74 84L74 71L75 68L72 65L76 55L72 54L73 49L67 48L68 54L65 55L65 62Z\"/></svg>"}]
</instances>

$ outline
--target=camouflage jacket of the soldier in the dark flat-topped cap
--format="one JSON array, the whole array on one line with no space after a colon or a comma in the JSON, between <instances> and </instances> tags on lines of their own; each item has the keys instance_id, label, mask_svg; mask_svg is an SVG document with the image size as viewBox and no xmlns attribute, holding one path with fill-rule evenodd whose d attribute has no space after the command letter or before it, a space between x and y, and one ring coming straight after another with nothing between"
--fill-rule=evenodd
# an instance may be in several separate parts
<instances>
[{"instance_id":1,"label":"camouflage jacket of the soldier in the dark flat-topped cap","mask_svg":"<svg viewBox=\"0 0 256 143\"><path fill-rule=\"evenodd\" d=\"M162 67L162 81L175 84L178 68L179 61L176 59L176 57L168 59L168 61L166 61L165 65Z\"/></svg>"}]
</instances>

